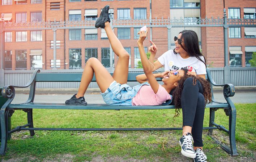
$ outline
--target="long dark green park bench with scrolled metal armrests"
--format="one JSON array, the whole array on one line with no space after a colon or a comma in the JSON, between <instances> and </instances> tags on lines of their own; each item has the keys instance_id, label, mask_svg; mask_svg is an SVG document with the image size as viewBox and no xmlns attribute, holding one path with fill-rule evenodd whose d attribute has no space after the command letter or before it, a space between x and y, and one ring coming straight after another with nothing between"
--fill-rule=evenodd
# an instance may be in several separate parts
<instances>
[{"instance_id":1,"label":"long dark green park bench with scrolled metal armrests","mask_svg":"<svg viewBox=\"0 0 256 162\"><path fill-rule=\"evenodd\" d=\"M213 86L223 86L223 95L226 99L226 103L217 102L213 96L212 90L212 102L206 104L206 108L210 109L210 120L208 129L208 135L216 141L221 147L228 152L231 156L237 156L236 142L235 142L235 125L236 125L236 108L229 97L234 96L235 88L232 84L217 85L212 78L210 70L207 68L206 78L210 82L211 89ZM129 73L128 81L136 81L136 75L141 73ZM61 103L34 103L35 87L37 82L80 82L82 73L40 73L40 70L35 70L31 80L25 86L4 86L1 89L1 94L4 98L7 98L0 111L1 122L1 148L0 154L4 155L7 147L8 135L13 132L21 130L29 130L30 135L35 134L34 130L79 130L79 131L135 131L135 130L182 130L182 128L35 128L33 126L33 109L81 109L81 110L131 110L131 109L175 109L174 105L161 105L161 106L109 106L107 104L88 104L87 106L67 106ZM95 77L93 78L95 82ZM158 78L158 81L161 81ZM12 104L12 100L15 96L15 87L24 88L30 86L29 98L25 103ZM224 109L226 116L229 116L229 130L224 126L218 125L214 122L214 114L218 109ZM8 130L8 118L12 116L15 110L23 110L27 113L27 124L18 126L12 130ZM212 136L213 129L219 129L229 134L230 146L224 145Z\"/></svg>"}]
</instances>

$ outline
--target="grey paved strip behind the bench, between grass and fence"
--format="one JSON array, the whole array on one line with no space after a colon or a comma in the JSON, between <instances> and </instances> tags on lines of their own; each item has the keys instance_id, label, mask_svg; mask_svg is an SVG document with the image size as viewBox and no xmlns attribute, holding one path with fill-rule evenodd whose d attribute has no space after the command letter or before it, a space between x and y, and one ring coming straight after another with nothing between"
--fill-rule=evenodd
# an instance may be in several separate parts
<instances>
[{"instance_id":1,"label":"grey paved strip behind the bench, between grass and fence","mask_svg":"<svg viewBox=\"0 0 256 162\"><path fill-rule=\"evenodd\" d=\"M73 91L49 91L49 92L37 92L34 102L48 102L48 103L64 103L65 100L71 98L76 93ZM16 92L15 98L12 103L22 103L28 98L28 93ZM214 92L214 98L217 101L225 102L223 92L217 90ZM88 103L104 103L102 96L99 92L88 92L85 94L85 99ZM234 103L256 103L256 91L248 90L236 91L235 95L231 97Z\"/></svg>"}]
</instances>

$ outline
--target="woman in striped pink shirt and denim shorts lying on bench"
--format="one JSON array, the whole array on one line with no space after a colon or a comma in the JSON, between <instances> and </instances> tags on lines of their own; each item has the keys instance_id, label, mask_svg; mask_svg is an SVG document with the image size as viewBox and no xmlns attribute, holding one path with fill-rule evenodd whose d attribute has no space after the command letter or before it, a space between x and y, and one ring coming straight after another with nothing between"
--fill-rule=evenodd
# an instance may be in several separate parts
<instances>
[{"instance_id":1,"label":"woman in striped pink shirt and denim shorts lying on bench","mask_svg":"<svg viewBox=\"0 0 256 162\"><path fill-rule=\"evenodd\" d=\"M125 51L121 42L110 27L108 9L109 6L105 6L102 9L101 15L95 23L95 27L104 28L111 47L118 56L115 71L111 76L97 58L88 59L77 94L73 95L65 104L87 105L84 94L94 74L97 84L101 89L103 100L108 105L161 105L166 100L172 100L172 96L169 93L178 85L178 81L185 75L185 71L168 71L160 74L152 73L152 68L146 57L143 46L143 41L147 36L148 30L146 32L138 32L140 38L137 41L142 66L146 75L145 82L133 88L126 84L129 68L129 53ZM137 77L142 77L141 80L144 79L143 76ZM159 85L155 77L163 77L162 81L164 84ZM146 80L148 80L149 83L146 82Z\"/></svg>"}]
</instances>

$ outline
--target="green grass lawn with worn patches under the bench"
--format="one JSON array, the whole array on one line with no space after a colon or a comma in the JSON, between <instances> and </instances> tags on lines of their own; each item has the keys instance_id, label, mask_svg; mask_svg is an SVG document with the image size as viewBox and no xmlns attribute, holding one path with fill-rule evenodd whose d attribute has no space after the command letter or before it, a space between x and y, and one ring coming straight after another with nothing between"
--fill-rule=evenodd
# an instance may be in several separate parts
<instances>
[{"instance_id":1,"label":"green grass lawn with worn patches under the bench","mask_svg":"<svg viewBox=\"0 0 256 162\"><path fill-rule=\"evenodd\" d=\"M231 157L203 131L208 161L255 161L255 104L235 104L236 146L239 156ZM204 126L209 126L205 109ZM34 127L121 128L181 127L182 114L174 110L40 110L34 109ZM220 109L215 122L228 128L229 117ZM26 124L26 113L15 111L12 128ZM229 144L227 133L214 136ZM12 134L2 161L193 161L180 153L182 131L29 131Z\"/></svg>"}]
</instances>

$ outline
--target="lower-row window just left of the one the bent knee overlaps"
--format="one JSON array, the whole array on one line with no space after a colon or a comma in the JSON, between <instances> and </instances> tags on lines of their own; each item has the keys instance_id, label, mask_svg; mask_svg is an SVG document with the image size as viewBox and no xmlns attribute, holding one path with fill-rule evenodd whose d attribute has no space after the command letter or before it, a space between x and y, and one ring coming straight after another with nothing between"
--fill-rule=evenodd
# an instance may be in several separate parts
<instances>
[{"instance_id":1,"label":"lower-row window just left of the one the bent knee overlaps","mask_svg":"<svg viewBox=\"0 0 256 162\"><path fill-rule=\"evenodd\" d=\"M69 69L81 69L81 48L71 48L69 49Z\"/></svg>"}]
</instances>

